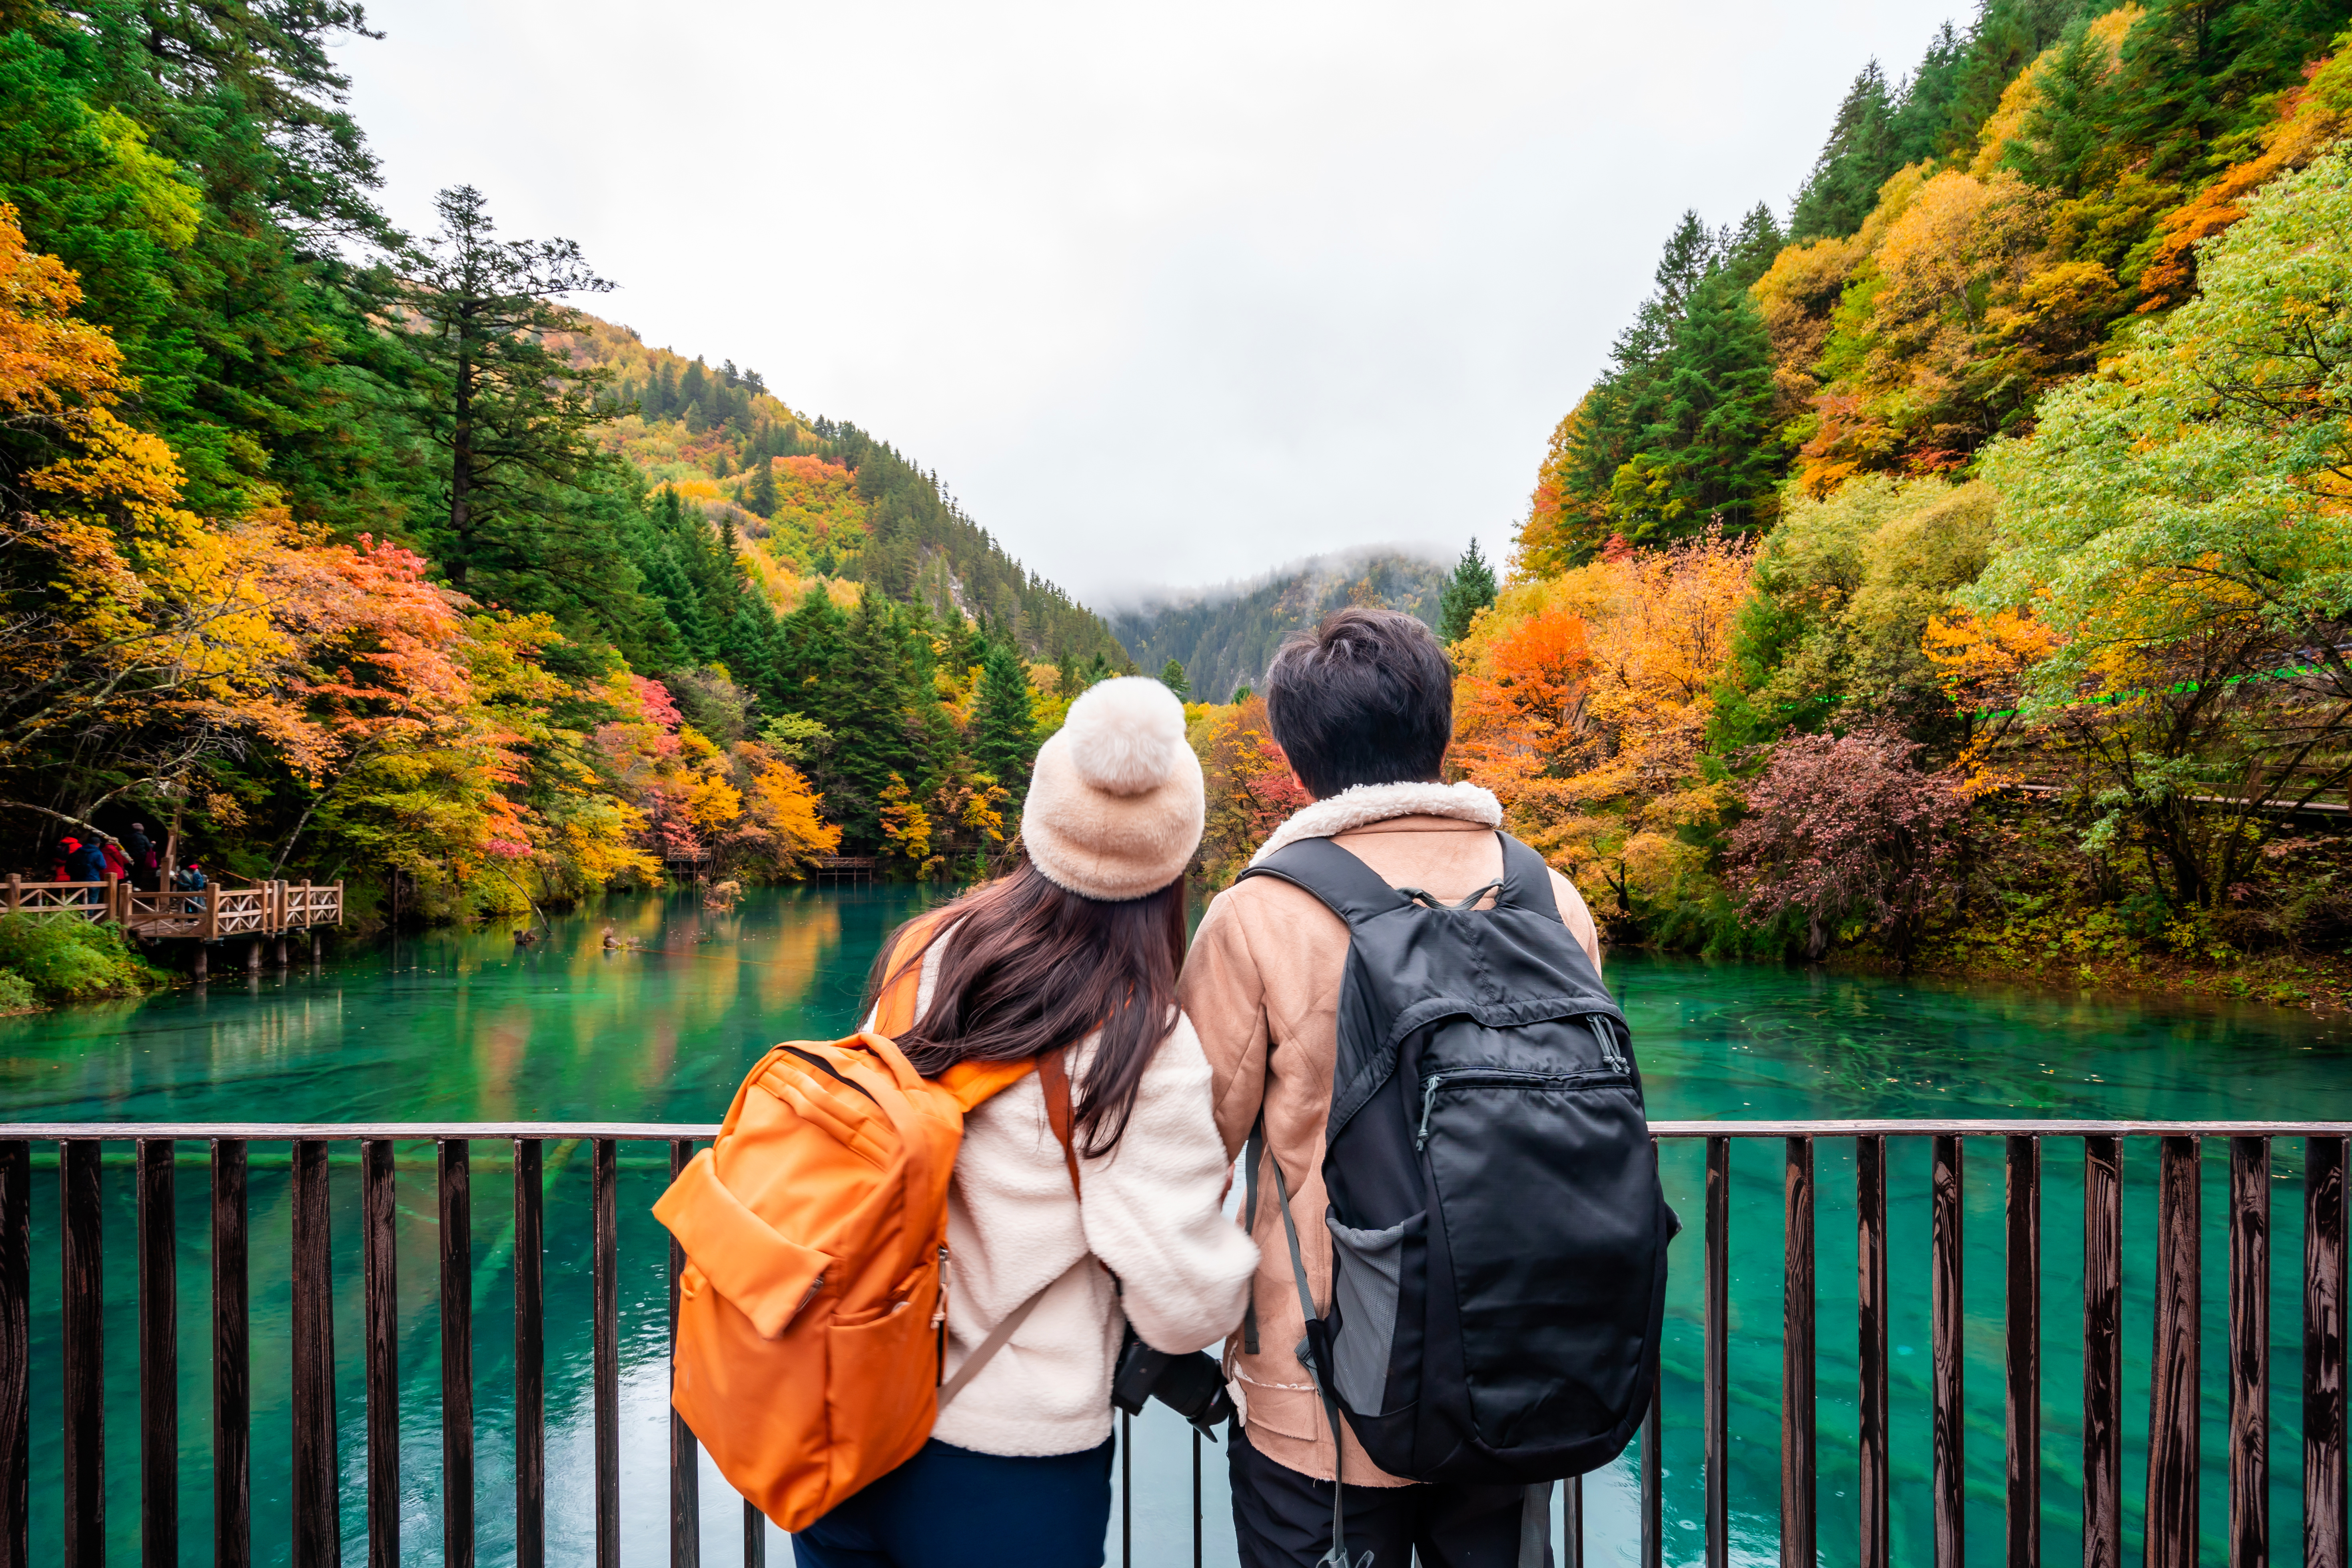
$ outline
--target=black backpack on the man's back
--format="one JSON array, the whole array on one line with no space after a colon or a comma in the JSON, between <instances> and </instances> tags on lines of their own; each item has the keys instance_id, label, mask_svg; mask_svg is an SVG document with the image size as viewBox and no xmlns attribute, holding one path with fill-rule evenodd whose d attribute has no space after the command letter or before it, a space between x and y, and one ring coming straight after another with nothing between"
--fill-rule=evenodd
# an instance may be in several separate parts
<instances>
[{"instance_id":1,"label":"black backpack on the man's back","mask_svg":"<svg viewBox=\"0 0 2352 1568\"><path fill-rule=\"evenodd\" d=\"M1279 1161L1275 1182L1308 1319L1298 1356L1334 1434L1345 1418L1374 1465L1414 1481L1538 1483L1613 1460L1649 1410L1679 1229L1625 1016L1543 858L1496 837L1501 884L1458 905L1388 886L1331 839L1244 872L1348 922L1322 1314Z\"/></svg>"}]
</instances>

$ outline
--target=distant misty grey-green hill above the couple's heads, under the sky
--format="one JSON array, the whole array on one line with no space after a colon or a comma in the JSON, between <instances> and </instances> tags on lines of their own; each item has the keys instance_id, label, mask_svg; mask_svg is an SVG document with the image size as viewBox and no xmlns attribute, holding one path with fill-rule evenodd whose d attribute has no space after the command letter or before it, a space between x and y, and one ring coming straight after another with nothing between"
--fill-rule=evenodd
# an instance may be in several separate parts
<instances>
[{"instance_id":1,"label":"distant misty grey-green hill above the couple's heads, under the sky","mask_svg":"<svg viewBox=\"0 0 2352 1568\"><path fill-rule=\"evenodd\" d=\"M1282 639L1341 604L1381 604L1437 625L1446 567L1397 552L1317 555L1258 583L1228 583L1112 611L1110 625L1138 668L1185 668L1192 696L1223 703L1256 686Z\"/></svg>"}]
</instances>

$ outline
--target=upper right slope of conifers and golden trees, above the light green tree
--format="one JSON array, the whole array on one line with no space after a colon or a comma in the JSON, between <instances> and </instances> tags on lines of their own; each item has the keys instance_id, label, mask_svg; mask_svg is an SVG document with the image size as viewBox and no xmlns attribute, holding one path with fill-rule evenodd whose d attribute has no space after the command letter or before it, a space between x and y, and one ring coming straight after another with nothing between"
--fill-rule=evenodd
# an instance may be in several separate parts
<instances>
[{"instance_id":1,"label":"upper right slope of conifers and golden trees, above the light green tree","mask_svg":"<svg viewBox=\"0 0 2352 1568\"><path fill-rule=\"evenodd\" d=\"M2345 134L2345 0L1985 0L1839 103L1790 221L1684 214L1559 421L1522 550L1752 531L1851 475L1964 475L2194 296L2197 244Z\"/></svg>"}]
</instances>

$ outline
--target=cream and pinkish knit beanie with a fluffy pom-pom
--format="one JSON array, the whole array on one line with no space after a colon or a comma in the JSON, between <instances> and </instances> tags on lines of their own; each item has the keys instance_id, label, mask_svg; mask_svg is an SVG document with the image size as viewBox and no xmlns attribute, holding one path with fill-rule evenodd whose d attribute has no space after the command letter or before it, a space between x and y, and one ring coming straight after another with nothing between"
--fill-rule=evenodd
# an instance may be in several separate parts
<instances>
[{"instance_id":1,"label":"cream and pinkish knit beanie with a fluffy pom-pom","mask_svg":"<svg viewBox=\"0 0 2352 1568\"><path fill-rule=\"evenodd\" d=\"M1077 693L1037 748L1021 844L1054 886L1124 903L1183 875L1204 813L1183 703L1148 675Z\"/></svg>"}]
</instances>

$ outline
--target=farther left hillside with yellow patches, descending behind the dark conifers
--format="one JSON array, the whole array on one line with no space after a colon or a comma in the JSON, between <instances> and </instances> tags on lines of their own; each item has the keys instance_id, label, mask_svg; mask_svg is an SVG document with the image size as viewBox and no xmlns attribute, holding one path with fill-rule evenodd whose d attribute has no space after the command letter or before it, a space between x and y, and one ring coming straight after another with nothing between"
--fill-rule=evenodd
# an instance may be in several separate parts
<instances>
[{"instance_id":1,"label":"farther left hillside with yellow patches, descending behind the dark conifers","mask_svg":"<svg viewBox=\"0 0 2352 1568\"><path fill-rule=\"evenodd\" d=\"M873 583L981 616L1037 658L1122 661L1101 616L1021 567L889 442L800 414L734 360L710 369L630 327L590 320L564 346L609 369L612 400L628 407L604 425L607 447L715 527L731 522L779 611L811 583Z\"/></svg>"}]
</instances>

